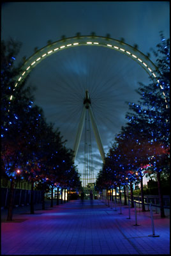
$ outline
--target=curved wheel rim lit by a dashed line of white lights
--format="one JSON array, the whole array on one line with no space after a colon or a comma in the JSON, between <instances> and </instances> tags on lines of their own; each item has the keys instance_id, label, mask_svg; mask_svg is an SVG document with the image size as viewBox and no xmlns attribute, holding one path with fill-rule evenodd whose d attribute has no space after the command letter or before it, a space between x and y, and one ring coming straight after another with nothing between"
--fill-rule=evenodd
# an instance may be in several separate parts
<instances>
[{"instance_id":1,"label":"curved wheel rim lit by a dashed line of white lights","mask_svg":"<svg viewBox=\"0 0 171 256\"><path fill-rule=\"evenodd\" d=\"M28 58L21 67L21 72L19 76L16 77L15 89L19 84L24 81L27 75L33 70L38 63L42 60L45 60L48 56L51 56L54 53L59 51L63 51L64 49L68 49L70 47L77 47L80 45L91 45L91 46L101 46L108 47L112 50L119 51L126 56L130 57L132 60L137 61L137 63L144 68L145 72L149 74L154 82L160 83L156 76L156 72L158 72L158 68L154 65L154 63L142 52L135 49L131 45L128 45L119 40L115 40L113 38L106 38L103 36L75 36L71 38L66 38L63 40L58 40L56 42L50 43L40 50L36 51L30 58ZM160 84L160 88L163 87ZM163 92L163 96L167 106L167 99L165 97L165 93ZM13 99L13 95L10 96L10 100Z\"/></svg>"}]
</instances>

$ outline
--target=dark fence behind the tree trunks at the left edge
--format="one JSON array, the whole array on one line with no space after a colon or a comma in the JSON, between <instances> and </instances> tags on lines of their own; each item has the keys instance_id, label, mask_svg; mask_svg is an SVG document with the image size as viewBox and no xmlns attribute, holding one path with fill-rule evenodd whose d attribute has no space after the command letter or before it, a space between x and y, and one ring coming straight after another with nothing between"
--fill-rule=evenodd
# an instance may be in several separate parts
<instances>
[{"instance_id":1,"label":"dark fence behind the tree trunks at the left edge","mask_svg":"<svg viewBox=\"0 0 171 256\"><path fill-rule=\"evenodd\" d=\"M10 198L10 189L1 188L1 208L8 207ZM42 191L33 191L33 204L41 203ZM29 205L31 200L31 190L14 189L13 206Z\"/></svg>"}]
</instances>

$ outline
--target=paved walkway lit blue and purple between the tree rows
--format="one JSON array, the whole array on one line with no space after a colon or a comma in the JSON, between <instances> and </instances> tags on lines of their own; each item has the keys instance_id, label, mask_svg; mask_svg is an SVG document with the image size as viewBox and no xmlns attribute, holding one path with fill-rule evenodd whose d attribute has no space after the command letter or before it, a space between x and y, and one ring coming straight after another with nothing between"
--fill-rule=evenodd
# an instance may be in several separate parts
<instances>
[{"instance_id":1,"label":"paved walkway lit blue and purple between the tree rows","mask_svg":"<svg viewBox=\"0 0 171 256\"><path fill-rule=\"evenodd\" d=\"M117 211L99 200L66 202L35 214L15 214L1 225L2 255L116 255L170 254L170 219L154 212L152 234L149 212ZM27 213L27 212L26 212Z\"/></svg>"}]
</instances>

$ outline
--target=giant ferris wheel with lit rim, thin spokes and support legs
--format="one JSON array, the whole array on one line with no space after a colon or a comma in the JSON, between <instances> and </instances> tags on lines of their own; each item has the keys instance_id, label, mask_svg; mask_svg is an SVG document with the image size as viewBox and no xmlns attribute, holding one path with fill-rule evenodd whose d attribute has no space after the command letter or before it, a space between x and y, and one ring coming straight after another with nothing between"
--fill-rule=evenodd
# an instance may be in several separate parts
<instances>
[{"instance_id":1,"label":"giant ferris wheel with lit rim, thin spokes and support legs","mask_svg":"<svg viewBox=\"0 0 171 256\"><path fill-rule=\"evenodd\" d=\"M103 36L64 38L25 61L10 100L20 82L31 73L27 83L31 80L39 84L36 104L46 106L43 110L48 121L56 120L74 150L73 161L84 163L80 173L82 185L87 187L95 181L93 158L97 149L101 163L105 163L107 145L115 135L115 127L121 127L119 118L123 119L121 113L126 113L127 108L124 102L137 97L138 82L151 77L160 83L156 71L147 56L120 40ZM167 106L166 99L165 102Z\"/></svg>"}]
</instances>

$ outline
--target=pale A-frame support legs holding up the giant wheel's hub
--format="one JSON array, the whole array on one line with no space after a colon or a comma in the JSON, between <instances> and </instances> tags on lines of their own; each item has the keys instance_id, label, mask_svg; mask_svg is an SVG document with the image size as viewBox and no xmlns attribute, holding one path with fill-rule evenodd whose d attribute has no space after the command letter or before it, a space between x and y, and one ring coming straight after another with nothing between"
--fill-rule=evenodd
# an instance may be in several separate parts
<instances>
[{"instance_id":1,"label":"pale A-frame support legs holding up the giant wheel's hub","mask_svg":"<svg viewBox=\"0 0 171 256\"><path fill-rule=\"evenodd\" d=\"M89 116L90 116L91 124L92 124L92 127L93 127L94 136L96 138L98 149L99 149L100 154L101 154L101 159L102 159L103 163L105 163L105 152L103 150L103 145L101 143L101 138L100 138L100 134L98 132L98 127L97 127L95 119L94 119L93 111L92 111L92 108L91 108L91 100L89 99L88 91L85 92L85 98L84 98L83 103L84 103L84 108L82 109L82 114L81 114L81 117L80 117L80 123L79 123L78 129L77 129L77 136L75 138L75 145L73 147L73 151L74 151L73 161L75 161L75 157L77 156L77 152L78 152L78 147L80 145L80 139L81 139L81 136L82 136L82 130L83 130L83 127L84 127L84 122L85 122L85 113L86 113L86 111L89 111Z\"/></svg>"}]
</instances>

